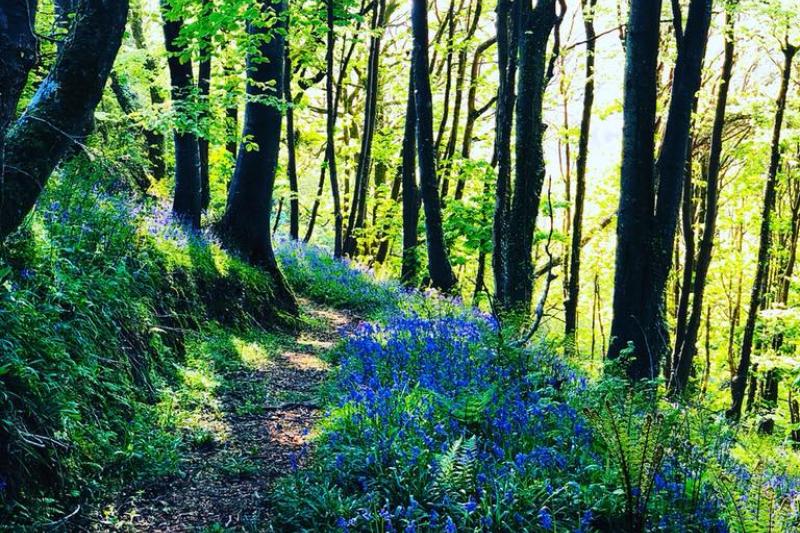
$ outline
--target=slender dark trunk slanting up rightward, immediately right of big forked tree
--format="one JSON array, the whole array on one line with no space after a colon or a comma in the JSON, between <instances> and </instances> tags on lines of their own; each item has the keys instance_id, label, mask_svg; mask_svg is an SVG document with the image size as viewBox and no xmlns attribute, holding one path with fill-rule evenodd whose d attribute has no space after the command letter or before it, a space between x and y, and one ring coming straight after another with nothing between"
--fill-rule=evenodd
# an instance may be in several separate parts
<instances>
[{"instance_id":1,"label":"slender dark trunk slanting up rightward, immediately right of big forked tree","mask_svg":"<svg viewBox=\"0 0 800 533\"><path fill-rule=\"evenodd\" d=\"M697 253L697 263L694 273L692 311L683 334L682 342L676 339L675 369L673 386L677 392L685 389L691 374L692 362L697 353L697 337L700 331L700 321L703 313L703 297L705 295L708 269L714 248L714 234L717 224L717 204L719 197L719 175L722 156L723 133L725 129L725 110L728 104L728 90L730 88L731 73L734 59L734 14L728 10L725 13L725 50L722 62L717 106L714 112L714 124L711 132L711 146L709 149L708 171L706 172L706 200L703 236Z\"/></svg>"}]
</instances>

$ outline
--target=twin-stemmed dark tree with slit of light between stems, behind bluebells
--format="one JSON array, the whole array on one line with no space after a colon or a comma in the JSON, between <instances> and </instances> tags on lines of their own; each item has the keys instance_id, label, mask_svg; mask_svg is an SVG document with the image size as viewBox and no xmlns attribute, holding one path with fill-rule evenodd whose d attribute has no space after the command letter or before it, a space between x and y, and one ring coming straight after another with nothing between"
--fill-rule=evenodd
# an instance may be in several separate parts
<instances>
[{"instance_id":1,"label":"twin-stemmed dark tree with slit of light between stems, behind bluebells","mask_svg":"<svg viewBox=\"0 0 800 533\"><path fill-rule=\"evenodd\" d=\"M501 81L495 144L498 161L493 229L495 296L505 309L523 313L528 312L531 304L531 253L545 178L542 105L547 85L547 42L556 22L555 4L555 0L538 0L533 7L520 2L513 5L513 16L511 5L503 2L497 7ZM512 120L516 123L513 194Z\"/></svg>"}]
</instances>

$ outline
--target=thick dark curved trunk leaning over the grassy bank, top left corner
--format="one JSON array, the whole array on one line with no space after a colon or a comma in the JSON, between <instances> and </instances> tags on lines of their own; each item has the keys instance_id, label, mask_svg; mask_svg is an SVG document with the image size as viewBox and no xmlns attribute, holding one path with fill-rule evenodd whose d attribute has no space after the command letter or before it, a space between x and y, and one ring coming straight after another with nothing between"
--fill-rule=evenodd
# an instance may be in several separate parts
<instances>
[{"instance_id":1,"label":"thick dark curved trunk leaning over the grassy bank, top left corner","mask_svg":"<svg viewBox=\"0 0 800 533\"><path fill-rule=\"evenodd\" d=\"M33 5L31 2L30 6ZM0 8L0 14L7 9ZM24 6L22 9L22 13L17 11L6 19L10 29L2 32L0 39L14 38L18 21L25 24L24 28L30 28L26 21L32 11L25 12ZM26 112L6 133L0 240L23 222L64 154L87 135L122 43L127 15L127 0L81 2L73 31L61 47L53 68L39 85ZM21 30L12 49L29 50L30 37L24 35L26 31L29 32ZM0 75L12 76L17 84L23 84L19 76L24 76L25 65L30 61L25 53L24 58L20 57L21 66L9 65L4 60ZM21 85L9 85L17 86ZM4 114L6 102L18 98L15 92L8 93L8 100L3 96L0 109Z\"/></svg>"}]
</instances>

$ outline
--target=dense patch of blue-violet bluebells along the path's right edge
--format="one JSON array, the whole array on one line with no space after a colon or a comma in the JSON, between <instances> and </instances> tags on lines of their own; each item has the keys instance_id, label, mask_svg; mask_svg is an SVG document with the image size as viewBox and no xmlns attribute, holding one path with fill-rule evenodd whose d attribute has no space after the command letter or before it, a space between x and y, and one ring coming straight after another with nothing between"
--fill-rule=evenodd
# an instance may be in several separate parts
<instances>
[{"instance_id":1,"label":"dense patch of blue-violet bluebells along the path's right edge","mask_svg":"<svg viewBox=\"0 0 800 533\"><path fill-rule=\"evenodd\" d=\"M545 351L527 354L525 368L509 363L497 329L451 300L351 333L318 448L323 475L364 498L339 529L588 528L591 506L574 505L573 478L595 460L584 453L592 432L553 386L585 381ZM468 416L470 401L479 412ZM469 439L467 474L442 488L443 457Z\"/></svg>"}]
</instances>

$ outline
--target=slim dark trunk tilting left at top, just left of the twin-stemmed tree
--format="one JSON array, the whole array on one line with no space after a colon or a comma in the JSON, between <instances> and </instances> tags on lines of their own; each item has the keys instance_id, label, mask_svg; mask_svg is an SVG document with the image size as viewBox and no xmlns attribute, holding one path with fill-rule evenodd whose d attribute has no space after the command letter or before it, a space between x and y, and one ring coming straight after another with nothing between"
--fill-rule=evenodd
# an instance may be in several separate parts
<instances>
[{"instance_id":1,"label":"slim dark trunk tilting left at top, just left of the twin-stemmed tree","mask_svg":"<svg viewBox=\"0 0 800 533\"><path fill-rule=\"evenodd\" d=\"M428 75L428 2L413 0L411 25L414 51L411 68L414 77L414 106L417 113L417 154L420 190L425 209L425 233L428 244L428 273L431 284L444 292L456 286L442 228L439 187L436 182L436 157L433 144L433 104Z\"/></svg>"}]
</instances>

